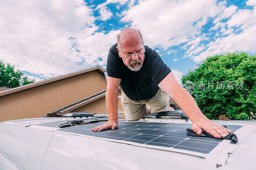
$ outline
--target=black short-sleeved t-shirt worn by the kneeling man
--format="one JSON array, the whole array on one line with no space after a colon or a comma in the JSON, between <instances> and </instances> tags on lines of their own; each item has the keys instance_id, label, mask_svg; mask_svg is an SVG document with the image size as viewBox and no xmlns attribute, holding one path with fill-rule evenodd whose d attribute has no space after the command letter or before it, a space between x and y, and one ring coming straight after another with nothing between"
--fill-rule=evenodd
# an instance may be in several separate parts
<instances>
[{"instance_id":1,"label":"black short-sleeved t-shirt worn by the kneeling man","mask_svg":"<svg viewBox=\"0 0 256 170\"><path fill-rule=\"evenodd\" d=\"M130 70L119 57L117 44L109 49L107 61L108 76L121 79L120 87L132 100L145 100L155 96L158 84L171 72L161 57L145 46L145 59L139 71Z\"/></svg>"}]
</instances>

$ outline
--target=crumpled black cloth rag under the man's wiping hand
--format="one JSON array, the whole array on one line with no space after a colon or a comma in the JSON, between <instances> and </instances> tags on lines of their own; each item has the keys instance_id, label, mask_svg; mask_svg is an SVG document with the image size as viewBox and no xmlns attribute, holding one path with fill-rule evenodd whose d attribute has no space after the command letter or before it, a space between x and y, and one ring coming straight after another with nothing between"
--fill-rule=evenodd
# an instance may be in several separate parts
<instances>
[{"instance_id":1,"label":"crumpled black cloth rag under the man's wiping hand","mask_svg":"<svg viewBox=\"0 0 256 170\"><path fill-rule=\"evenodd\" d=\"M223 126L225 128L227 128L227 126ZM187 129L187 135L188 136L208 136L208 137L211 137L211 138L214 138L214 136L212 136L211 134L209 134L207 131L205 131L203 129L203 133L201 135L197 135L196 132L194 132L192 129ZM236 137L236 134L234 134L233 132L232 133L228 133L227 136L225 137L221 137L221 139L229 139L231 140L230 143L231 144L235 144L237 143L238 139Z\"/></svg>"}]
</instances>

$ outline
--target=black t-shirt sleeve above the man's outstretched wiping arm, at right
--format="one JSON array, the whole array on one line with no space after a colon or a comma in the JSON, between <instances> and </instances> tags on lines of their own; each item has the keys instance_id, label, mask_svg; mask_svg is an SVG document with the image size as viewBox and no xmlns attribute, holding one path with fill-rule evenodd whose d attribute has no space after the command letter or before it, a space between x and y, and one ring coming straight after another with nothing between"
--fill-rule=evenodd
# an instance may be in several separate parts
<instances>
[{"instance_id":1,"label":"black t-shirt sleeve above the man's outstretched wiping arm, at right","mask_svg":"<svg viewBox=\"0 0 256 170\"><path fill-rule=\"evenodd\" d=\"M152 52L152 56L148 62L148 76L158 85L169 73L171 73L171 69L166 66L155 50L152 50Z\"/></svg>"}]
</instances>

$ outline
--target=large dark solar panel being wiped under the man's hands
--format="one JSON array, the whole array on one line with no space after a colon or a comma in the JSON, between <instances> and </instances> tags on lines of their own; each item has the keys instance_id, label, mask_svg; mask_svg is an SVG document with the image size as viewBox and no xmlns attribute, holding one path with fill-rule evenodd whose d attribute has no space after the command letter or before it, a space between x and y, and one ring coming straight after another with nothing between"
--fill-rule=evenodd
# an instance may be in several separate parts
<instances>
[{"instance_id":1,"label":"large dark solar panel being wiped under the man's hands","mask_svg":"<svg viewBox=\"0 0 256 170\"><path fill-rule=\"evenodd\" d=\"M145 145L173 147L200 153L209 153L223 139L209 137L192 137L186 133L192 124L154 123L154 122L118 122L115 130L94 132L93 127L105 122L79 125L57 131L71 132L105 139L122 140L123 143L134 142ZM242 126L226 125L231 131L236 131Z\"/></svg>"}]
</instances>

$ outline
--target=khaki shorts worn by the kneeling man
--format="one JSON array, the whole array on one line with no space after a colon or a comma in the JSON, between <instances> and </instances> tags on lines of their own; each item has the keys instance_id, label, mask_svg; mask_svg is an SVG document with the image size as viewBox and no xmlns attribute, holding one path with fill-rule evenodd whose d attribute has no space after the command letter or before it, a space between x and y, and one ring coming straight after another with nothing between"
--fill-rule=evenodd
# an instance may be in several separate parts
<instances>
[{"instance_id":1,"label":"khaki shorts worn by the kneeling man","mask_svg":"<svg viewBox=\"0 0 256 170\"><path fill-rule=\"evenodd\" d=\"M150 105L150 112L170 111L169 95L162 89L156 92L156 95L147 100L131 100L122 91L121 103L124 108L124 115L126 120L139 120L146 112L146 103Z\"/></svg>"}]
</instances>

